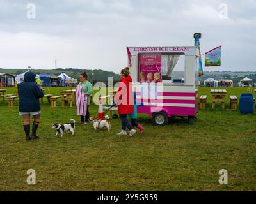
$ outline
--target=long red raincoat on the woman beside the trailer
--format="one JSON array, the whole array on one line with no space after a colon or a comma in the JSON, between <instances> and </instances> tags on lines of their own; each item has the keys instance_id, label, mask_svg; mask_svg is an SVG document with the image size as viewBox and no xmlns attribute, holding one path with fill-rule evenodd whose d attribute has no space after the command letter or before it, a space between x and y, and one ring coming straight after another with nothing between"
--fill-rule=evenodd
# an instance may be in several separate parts
<instances>
[{"instance_id":1,"label":"long red raincoat on the woman beside the trailer","mask_svg":"<svg viewBox=\"0 0 256 204\"><path fill-rule=\"evenodd\" d=\"M134 100L132 91L132 78L130 76L120 80L115 102L118 104L118 113L125 115L134 113Z\"/></svg>"}]
</instances>

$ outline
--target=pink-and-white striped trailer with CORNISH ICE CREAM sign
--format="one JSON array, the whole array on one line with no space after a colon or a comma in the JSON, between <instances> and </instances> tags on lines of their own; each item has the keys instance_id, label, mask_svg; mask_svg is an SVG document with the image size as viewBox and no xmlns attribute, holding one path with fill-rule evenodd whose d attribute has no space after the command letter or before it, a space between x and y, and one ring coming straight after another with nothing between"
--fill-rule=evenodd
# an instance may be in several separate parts
<instances>
[{"instance_id":1,"label":"pink-and-white striped trailer with CORNISH ICE CREAM sign","mask_svg":"<svg viewBox=\"0 0 256 204\"><path fill-rule=\"evenodd\" d=\"M147 113L153 124L168 124L174 116L195 117L198 112L199 49L197 47L127 47L136 92L138 113ZM184 77L172 78L179 57Z\"/></svg>"}]
</instances>

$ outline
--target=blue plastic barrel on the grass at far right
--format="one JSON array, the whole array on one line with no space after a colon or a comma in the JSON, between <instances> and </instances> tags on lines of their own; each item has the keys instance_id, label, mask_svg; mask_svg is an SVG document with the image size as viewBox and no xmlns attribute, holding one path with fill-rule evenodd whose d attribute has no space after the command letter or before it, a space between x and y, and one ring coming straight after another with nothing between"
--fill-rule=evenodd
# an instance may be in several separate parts
<instances>
[{"instance_id":1,"label":"blue plastic barrel on the grass at far right","mask_svg":"<svg viewBox=\"0 0 256 204\"><path fill-rule=\"evenodd\" d=\"M240 113L251 114L254 112L253 94L241 94L239 100Z\"/></svg>"}]
</instances>

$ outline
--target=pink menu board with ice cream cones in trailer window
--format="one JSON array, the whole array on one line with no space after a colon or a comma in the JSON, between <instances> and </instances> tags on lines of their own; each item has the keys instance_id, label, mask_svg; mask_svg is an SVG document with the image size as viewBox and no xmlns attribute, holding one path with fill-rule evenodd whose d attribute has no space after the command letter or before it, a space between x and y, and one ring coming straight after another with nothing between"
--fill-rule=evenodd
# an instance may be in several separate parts
<instances>
[{"instance_id":1,"label":"pink menu board with ice cream cones in trailer window","mask_svg":"<svg viewBox=\"0 0 256 204\"><path fill-rule=\"evenodd\" d=\"M161 80L161 54L140 54L139 58L139 81L162 82Z\"/></svg>"}]
</instances>

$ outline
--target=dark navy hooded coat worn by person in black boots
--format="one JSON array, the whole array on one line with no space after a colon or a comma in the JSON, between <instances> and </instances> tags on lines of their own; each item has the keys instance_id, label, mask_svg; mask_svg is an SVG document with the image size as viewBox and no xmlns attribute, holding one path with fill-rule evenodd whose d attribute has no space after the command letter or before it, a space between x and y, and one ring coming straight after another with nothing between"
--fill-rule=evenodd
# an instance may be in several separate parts
<instances>
[{"instance_id":1,"label":"dark navy hooded coat worn by person in black boots","mask_svg":"<svg viewBox=\"0 0 256 204\"><path fill-rule=\"evenodd\" d=\"M25 73L24 82L18 85L19 112L40 111L39 98L44 97L44 92L36 84L35 73Z\"/></svg>"}]
</instances>

